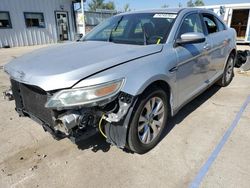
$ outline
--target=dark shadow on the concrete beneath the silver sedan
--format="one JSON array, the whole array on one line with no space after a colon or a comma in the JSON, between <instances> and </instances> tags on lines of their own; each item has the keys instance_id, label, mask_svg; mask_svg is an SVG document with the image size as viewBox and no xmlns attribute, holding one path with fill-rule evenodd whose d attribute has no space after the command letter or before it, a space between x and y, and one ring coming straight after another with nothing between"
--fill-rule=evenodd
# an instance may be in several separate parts
<instances>
[{"instance_id":1,"label":"dark shadow on the concrete beneath the silver sedan","mask_svg":"<svg viewBox=\"0 0 250 188\"><path fill-rule=\"evenodd\" d=\"M166 137L169 132L178 124L180 124L189 114L195 111L199 106L201 106L205 101L212 97L216 92L220 90L219 86L212 86L206 92L192 100L186 106L184 106L176 116L169 119L167 128L165 129L162 139ZM162 140L161 139L161 140ZM111 145L105 141L105 138L100 134L95 134L94 136L81 140L76 143L78 148L81 150L91 149L93 152L103 151L108 152ZM125 152L131 153L129 150L124 149Z\"/></svg>"}]
</instances>

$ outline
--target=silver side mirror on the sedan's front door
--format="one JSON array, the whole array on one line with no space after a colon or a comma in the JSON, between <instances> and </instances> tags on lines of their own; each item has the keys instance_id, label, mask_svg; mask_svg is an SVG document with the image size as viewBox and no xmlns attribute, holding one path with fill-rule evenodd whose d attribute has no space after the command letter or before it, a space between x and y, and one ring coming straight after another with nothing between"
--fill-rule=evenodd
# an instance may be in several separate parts
<instances>
[{"instance_id":1,"label":"silver side mirror on the sedan's front door","mask_svg":"<svg viewBox=\"0 0 250 188\"><path fill-rule=\"evenodd\" d=\"M205 42L206 38L203 33L184 33L181 35L180 39L176 40L176 44L195 44L195 43L202 43Z\"/></svg>"}]
</instances>

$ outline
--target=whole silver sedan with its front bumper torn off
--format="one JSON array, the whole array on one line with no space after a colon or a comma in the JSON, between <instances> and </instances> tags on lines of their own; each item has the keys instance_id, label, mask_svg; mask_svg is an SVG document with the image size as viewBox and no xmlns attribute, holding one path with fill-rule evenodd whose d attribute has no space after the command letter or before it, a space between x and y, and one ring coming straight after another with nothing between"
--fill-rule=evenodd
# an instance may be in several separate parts
<instances>
[{"instance_id":1,"label":"whole silver sedan with its front bumper torn off","mask_svg":"<svg viewBox=\"0 0 250 188\"><path fill-rule=\"evenodd\" d=\"M236 32L195 8L124 13L80 42L45 48L4 67L16 111L55 138L98 130L145 153L185 104L233 79Z\"/></svg>"}]
</instances>

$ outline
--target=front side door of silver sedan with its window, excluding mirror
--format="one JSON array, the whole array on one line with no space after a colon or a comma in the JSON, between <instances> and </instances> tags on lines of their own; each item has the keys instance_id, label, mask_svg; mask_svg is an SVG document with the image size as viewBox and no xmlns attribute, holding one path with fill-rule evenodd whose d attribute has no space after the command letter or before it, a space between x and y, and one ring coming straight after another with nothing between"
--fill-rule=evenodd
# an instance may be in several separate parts
<instances>
[{"instance_id":1,"label":"front side door of silver sedan with its window, excluding mirror","mask_svg":"<svg viewBox=\"0 0 250 188\"><path fill-rule=\"evenodd\" d=\"M190 13L184 17L177 32L177 39L182 34L190 32L204 33L198 13ZM210 47L210 41L207 39L202 43L183 44L175 48L178 58L176 79L179 105L207 87L209 60L204 49L206 47Z\"/></svg>"}]
</instances>

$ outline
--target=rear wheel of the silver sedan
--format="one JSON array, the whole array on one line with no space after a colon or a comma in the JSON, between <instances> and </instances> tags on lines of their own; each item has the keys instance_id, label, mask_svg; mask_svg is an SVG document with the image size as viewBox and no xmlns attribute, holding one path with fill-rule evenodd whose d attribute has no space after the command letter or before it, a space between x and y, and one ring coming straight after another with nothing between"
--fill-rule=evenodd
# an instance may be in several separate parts
<instances>
[{"instance_id":1,"label":"rear wheel of the silver sedan","mask_svg":"<svg viewBox=\"0 0 250 188\"><path fill-rule=\"evenodd\" d=\"M234 61L235 56L233 54L230 54L223 75L221 79L217 82L219 86L226 87L232 82L234 77Z\"/></svg>"}]
</instances>

